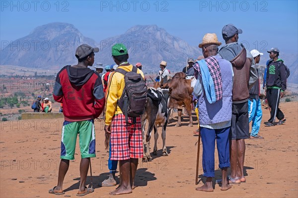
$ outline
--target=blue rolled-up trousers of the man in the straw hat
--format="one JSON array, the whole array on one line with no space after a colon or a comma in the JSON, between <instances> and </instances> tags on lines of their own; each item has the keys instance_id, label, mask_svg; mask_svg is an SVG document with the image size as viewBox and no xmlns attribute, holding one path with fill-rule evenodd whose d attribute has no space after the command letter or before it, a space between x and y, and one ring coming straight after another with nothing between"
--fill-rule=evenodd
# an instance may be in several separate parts
<instances>
[{"instance_id":1,"label":"blue rolled-up trousers of the man in the straw hat","mask_svg":"<svg viewBox=\"0 0 298 198\"><path fill-rule=\"evenodd\" d=\"M214 151L215 140L219 153L220 169L230 167L229 162L229 131L230 127L224 129L208 129L201 127L203 143L203 171L204 177L214 177Z\"/></svg>"}]
</instances>

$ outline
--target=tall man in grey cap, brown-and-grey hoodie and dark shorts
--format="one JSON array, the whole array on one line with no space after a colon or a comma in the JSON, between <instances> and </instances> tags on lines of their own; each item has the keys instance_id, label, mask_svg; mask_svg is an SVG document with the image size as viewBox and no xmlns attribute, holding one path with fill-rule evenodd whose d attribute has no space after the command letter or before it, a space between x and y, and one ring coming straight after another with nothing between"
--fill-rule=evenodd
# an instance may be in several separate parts
<instances>
[{"instance_id":1,"label":"tall man in grey cap, brown-and-grey hoodie and dark shorts","mask_svg":"<svg viewBox=\"0 0 298 198\"><path fill-rule=\"evenodd\" d=\"M243 173L245 141L249 138L248 122L248 98L249 88L254 85L258 79L257 71L252 66L254 60L248 50L242 44L238 44L238 34L242 30L236 28L233 24L227 24L223 27L222 34L225 45L218 52L221 57L231 62L233 66L233 105L232 105L232 123L230 131L230 162L231 175L229 183L240 184L246 179Z\"/></svg>"}]
</instances>

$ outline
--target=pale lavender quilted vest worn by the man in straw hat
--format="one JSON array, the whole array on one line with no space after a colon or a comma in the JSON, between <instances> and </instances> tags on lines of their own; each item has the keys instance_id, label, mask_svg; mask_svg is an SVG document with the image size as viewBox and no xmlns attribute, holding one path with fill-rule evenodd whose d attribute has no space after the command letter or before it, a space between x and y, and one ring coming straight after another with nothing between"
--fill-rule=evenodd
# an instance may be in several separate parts
<instances>
[{"instance_id":1,"label":"pale lavender quilted vest worn by the man in straw hat","mask_svg":"<svg viewBox=\"0 0 298 198\"><path fill-rule=\"evenodd\" d=\"M218 60L223 81L223 98L210 104L206 98L205 90L198 100L200 125L210 125L230 121L232 118L232 88L233 77L231 63L221 56L215 56Z\"/></svg>"}]
</instances>

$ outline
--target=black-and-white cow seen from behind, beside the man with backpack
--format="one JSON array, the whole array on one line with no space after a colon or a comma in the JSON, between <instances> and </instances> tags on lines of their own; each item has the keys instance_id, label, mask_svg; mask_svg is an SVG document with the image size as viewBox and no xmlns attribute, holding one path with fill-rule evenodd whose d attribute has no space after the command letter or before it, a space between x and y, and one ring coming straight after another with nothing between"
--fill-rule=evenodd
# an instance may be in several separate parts
<instances>
[{"instance_id":1,"label":"black-and-white cow seen from behind, beside the man with backpack","mask_svg":"<svg viewBox=\"0 0 298 198\"><path fill-rule=\"evenodd\" d=\"M144 157L143 162L151 161L150 156L150 138L152 129L154 129L154 147L153 155L157 155L157 139L158 132L157 127L162 128L162 155L167 156L167 150L165 147L165 130L168 122L168 101L169 91L168 89L153 88L148 89L147 103L145 106L145 113L141 116L142 120L142 133L143 133L143 148ZM148 121L148 131L145 135L145 124Z\"/></svg>"}]
</instances>

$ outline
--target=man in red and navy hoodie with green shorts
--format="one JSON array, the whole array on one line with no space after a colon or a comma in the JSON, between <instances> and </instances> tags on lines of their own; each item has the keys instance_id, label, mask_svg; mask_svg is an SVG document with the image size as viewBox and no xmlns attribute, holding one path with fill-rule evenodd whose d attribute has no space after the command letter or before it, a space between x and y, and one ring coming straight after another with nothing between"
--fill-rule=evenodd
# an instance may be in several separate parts
<instances>
[{"instance_id":1,"label":"man in red and navy hoodie with green shorts","mask_svg":"<svg viewBox=\"0 0 298 198\"><path fill-rule=\"evenodd\" d=\"M75 51L78 64L63 67L56 77L54 99L63 103L65 121L62 128L61 162L59 166L57 187L49 190L50 194L62 195L64 177L68 171L70 160L74 160L76 136L79 133L81 153L80 184L77 196L92 193L94 189L86 188L85 182L90 157L95 157L95 132L93 119L97 118L104 108L105 98L99 74L87 66L94 63L94 52L86 44Z\"/></svg>"}]
</instances>

